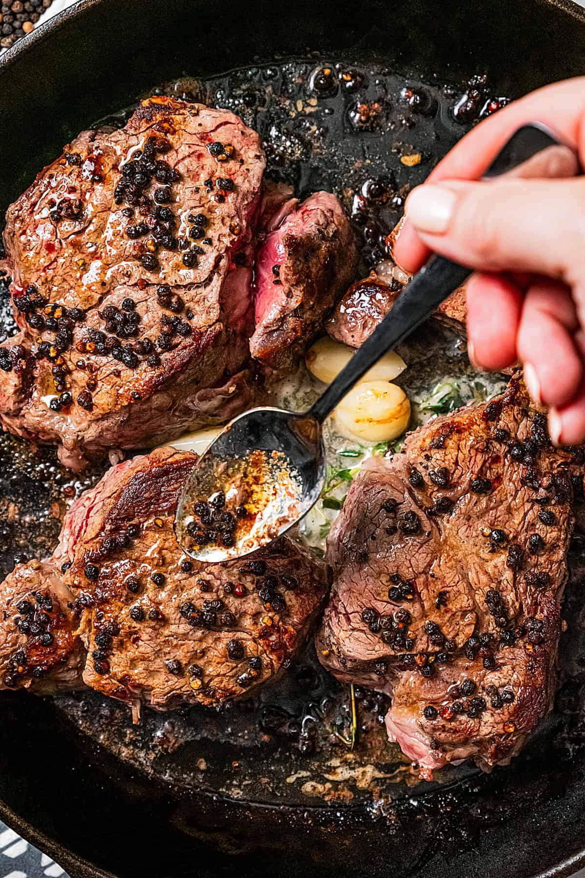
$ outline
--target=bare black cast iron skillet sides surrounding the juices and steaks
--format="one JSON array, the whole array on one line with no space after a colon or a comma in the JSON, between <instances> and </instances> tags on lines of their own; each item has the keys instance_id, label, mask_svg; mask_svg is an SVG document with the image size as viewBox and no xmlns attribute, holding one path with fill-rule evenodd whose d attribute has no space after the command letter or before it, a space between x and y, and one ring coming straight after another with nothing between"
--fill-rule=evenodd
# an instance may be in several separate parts
<instances>
[{"instance_id":1,"label":"bare black cast iron skillet sides surrounding the juices and steaks","mask_svg":"<svg viewBox=\"0 0 585 878\"><path fill-rule=\"evenodd\" d=\"M439 83L487 72L517 97L582 73L584 40L585 12L567 0L85 0L0 62L0 211L72 134L185 71L317 52ZM41 457L50 483L52 457ZM4 474L4 500L17 481ZM0 550L10 553L4 507ZM565 615L578 611L569 601ZM367 813L182 793L66 732L50 701L2 694L0 817L79 878L569 875L585 865L582 679L578 655L560 696L569 720L553 714L510 768Z\"/></svg>"}]
</instances>

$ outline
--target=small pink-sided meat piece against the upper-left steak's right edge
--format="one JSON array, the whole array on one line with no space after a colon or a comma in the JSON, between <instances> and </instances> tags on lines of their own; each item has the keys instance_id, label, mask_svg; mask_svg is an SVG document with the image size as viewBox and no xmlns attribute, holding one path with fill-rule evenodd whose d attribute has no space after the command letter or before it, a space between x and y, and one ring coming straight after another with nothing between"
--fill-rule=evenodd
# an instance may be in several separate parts
<instances>
[{"instance_id":1,"label":"small pink-sided meat piece against the upper-left steak's right edge","mask_svg":"<svg viewBox=\"0 0 585 878\"><path fill-rule=\"evenodd\" d=\"M358 251L339 200L316 192L290 200L268 225L255 266L253 357L270 371L293 368L350 283Z\"/></svg>"}]
</instances>

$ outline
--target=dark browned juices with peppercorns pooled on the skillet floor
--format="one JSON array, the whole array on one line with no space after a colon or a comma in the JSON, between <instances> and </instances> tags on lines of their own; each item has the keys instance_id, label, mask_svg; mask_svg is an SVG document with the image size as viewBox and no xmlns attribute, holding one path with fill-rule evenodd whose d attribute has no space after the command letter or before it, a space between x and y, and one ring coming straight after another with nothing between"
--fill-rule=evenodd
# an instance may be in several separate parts
<instances>
[{"instance_id":1,"label":"dark browned juices with peppercorns pooled on the skillet floor","mask_svg":"<svg viewBox=\"0 0 585 878\"><path fill-rule=\"evenodd\" d=\"M338 195L353 219L364 274L388 258L385 238L410 188L422 182L468 126L505 103L482 76L455 89L335 59L235 70L208 81L185 78L159 91L237 113L264 141L267 176L292 184L300 198L319 189ZM99 124L124 125L131 112L132 107ZM0 278L3 285L4 338L14 324ZM469 387L465 342L457 335L433 324L413 336L406 349L410 367L399 383L415 401L446 374ZM489 391L489 379L483 378ZM460 402L469 398L462 393ZM0 461L0 564L5 575L15 555L50 554L68 504L102 471L77 479L61 468L53 450L33 450L6 434L0 436ZM583 562L576 543L572 559L578 582ZM569 588L566 607L575 603L572 594ZM561 642L560 747L581 742L583 671L568 656L585 654L585 641L576 608L570 615ZM354 696L357 743L352 750L350 689L325 673L310 638L279 680L218 711L189 708L161 714L144 709L142 722L133 726L124 705L93 692L61 695L55 702L64 733L72 727L81 730L88 743L102 745L175 789L302 808L368 804L373 814L386 801L402 797L408 802L415 789L417 795L431 789L417 780L397 745L388 742L383 725L388 698L360 688ZM472 774L467 764L448 766L436 773L436 781L462 781ZM417 802L408 807L416 809Z\"/></svg>"}]
</instances>

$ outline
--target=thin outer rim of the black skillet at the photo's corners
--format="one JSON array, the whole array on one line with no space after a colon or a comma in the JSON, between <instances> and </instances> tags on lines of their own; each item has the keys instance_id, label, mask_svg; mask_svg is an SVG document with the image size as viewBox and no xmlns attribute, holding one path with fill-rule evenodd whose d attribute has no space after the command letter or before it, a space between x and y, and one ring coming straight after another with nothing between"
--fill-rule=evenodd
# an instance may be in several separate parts
<instances>
[{"instance_id":1,"label":"thin outer rim of the black skillet at the photo's corners","mask_svg":"<svg viewBox=\"0 0 585 878\"><path fill-rule=\"evenodd\" d=\"M574 0L533 0L533 2L551 6L585 25L585 7L576 4ZM75 18L82 18L85 11L102 3L103 0L76 0L67 9L49 18L48 21L36 27L22 40L18 40L13 47L0 56L0 72L11 68L21 57L34 52L39 45L52 39L62 25ZM119 878L119 875L114 872L96 867L89 860L78 856L67 847L61 846L59 841L46 832L36 829L25 817L21 817L2 799L0 799L0 819L14 831L17 831L32 846L49 854L69 874L75 875L75 878ZM571 854L545 870L532 873L530 878L570 878L583 867L585 867L585 845L579 853Z\"/></svg>"}]
</instances>

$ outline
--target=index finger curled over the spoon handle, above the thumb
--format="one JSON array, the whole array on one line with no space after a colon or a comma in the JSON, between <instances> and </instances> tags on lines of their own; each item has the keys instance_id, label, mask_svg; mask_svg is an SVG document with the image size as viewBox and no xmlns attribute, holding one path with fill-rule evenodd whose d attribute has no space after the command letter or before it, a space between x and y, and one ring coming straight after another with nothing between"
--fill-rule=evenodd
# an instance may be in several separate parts
<instances>
[{"instance_id":1,"label":"index finger curled over the spoon handle, above the thumb","mask_svg":"<svg viewBox=\"0 0 585 878\"><path fill-rule=\"evenodd\" d=\"M517 128L537 121L577 148L585 167L585 76L578 76L532 91L484 119L447 153L426 182L479 179ZM396 235L393 255L398 265L411 272L429 256L408 219Z\"/></svg>"}]
</instances>

